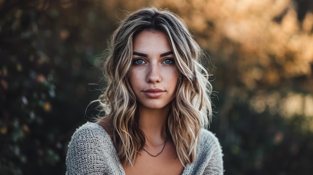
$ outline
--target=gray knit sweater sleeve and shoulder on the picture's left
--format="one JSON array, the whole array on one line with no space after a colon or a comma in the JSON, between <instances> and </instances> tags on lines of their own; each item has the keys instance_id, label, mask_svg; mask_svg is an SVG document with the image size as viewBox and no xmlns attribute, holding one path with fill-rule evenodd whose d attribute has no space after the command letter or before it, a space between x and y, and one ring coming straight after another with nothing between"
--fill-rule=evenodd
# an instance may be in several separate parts
<instances>
[{"instance_id":1,"label":"gray knit sweater sleeve and shoulder on the picture's left","mask_svg":"<svg viewBox=\"0 0 313 175\"><path fill-rule=\"evenodd\" d=\"M66 155L66 175L120 175L116 151L98 125L86 123L73 134Z\"/></svg>"}]
</instances>

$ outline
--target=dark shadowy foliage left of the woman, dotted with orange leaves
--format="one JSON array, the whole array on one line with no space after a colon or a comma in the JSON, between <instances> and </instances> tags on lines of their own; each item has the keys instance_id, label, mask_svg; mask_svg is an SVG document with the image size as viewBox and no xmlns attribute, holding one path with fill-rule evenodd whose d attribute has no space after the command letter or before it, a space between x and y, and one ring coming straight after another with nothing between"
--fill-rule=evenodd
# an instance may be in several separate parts
<instances>
[{"instance_id":1,"label":"dark shadowy foliage left of the woman, dotted with orange leaves","mask_svg":"<svg viewBox=\"0 0 313 175\"><path fill-rule=\"evenodd\" d=\"M104 36L97 43L92 20L67 24L58 5L9 3L0 19L0 174L64 174L70 136L98 95L88 83L100 76L93 44L101 53Z\"/></svg>"}]
</instances>

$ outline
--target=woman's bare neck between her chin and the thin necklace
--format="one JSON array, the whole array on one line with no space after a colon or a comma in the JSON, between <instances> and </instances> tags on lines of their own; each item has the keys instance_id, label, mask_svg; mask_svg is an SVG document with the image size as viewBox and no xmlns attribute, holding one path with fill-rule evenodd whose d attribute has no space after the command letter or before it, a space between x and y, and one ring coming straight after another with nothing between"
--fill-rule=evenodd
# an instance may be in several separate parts
<instances>
[{"instance_id":1,"label":"woman's bare neck between her chin and the thin necklace","mask_svg":"<svg viewBox=\"0 0 313 175\"><path fill-rule=\"evenodd\" d=\"M139 128L144 133L148 146L163 144L166 134L166 120L170 106L162 109L147 109L139 106Z\"/></svg>"}]
</instances>

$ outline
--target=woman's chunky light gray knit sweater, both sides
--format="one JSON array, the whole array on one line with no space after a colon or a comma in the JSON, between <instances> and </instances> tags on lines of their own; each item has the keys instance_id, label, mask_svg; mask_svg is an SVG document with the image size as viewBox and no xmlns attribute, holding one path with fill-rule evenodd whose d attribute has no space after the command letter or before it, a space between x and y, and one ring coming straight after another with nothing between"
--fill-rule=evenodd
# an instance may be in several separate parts
<instances>
[{"instance_id":1,"label":"woman's chunky light gray knit sweater, both sides","mask_svg":"<svg viewBox=\"0 0 313 175\"><path fill-rule=\"evenodd\" d=\"M196 160L182 175L222 175L221 148L216 137L202 129ZM87 122L73 134L66 156L66 175L125 175L105 130Z\"/></svg>"}]
</instances>

